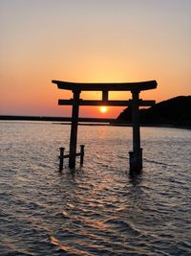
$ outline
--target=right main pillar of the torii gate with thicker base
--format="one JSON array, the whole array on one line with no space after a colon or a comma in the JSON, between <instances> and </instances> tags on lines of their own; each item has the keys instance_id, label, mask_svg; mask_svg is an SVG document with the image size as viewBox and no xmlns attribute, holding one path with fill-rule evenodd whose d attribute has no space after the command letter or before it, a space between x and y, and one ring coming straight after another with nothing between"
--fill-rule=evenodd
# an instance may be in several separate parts
<instances>
[{"instance_id":1,"label":"right main pillar of the torii gate with thicker base","mask_svg":"<svg viewBox=\"0 0 191 256\"><path fill-rule=\"evenodd\" d=\"M139 130L139 91L132 91L132 123L133 123L133 151L130 151L130 171L139 172L142 169L142 149L140 148Z\"/></svg>"}]
</instances>

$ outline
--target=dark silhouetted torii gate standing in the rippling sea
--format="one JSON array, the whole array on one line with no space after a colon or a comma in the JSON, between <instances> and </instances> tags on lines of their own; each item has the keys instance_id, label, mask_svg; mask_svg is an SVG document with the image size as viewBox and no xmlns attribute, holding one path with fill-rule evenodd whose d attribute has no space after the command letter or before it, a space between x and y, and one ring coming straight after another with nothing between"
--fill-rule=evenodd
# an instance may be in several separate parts
<instances>
[{"instance_id":1,"label":"dark silhouetted torii gate standing in the rippling sea","mask_svg":"<svg viewBox=\"0 0 191 256\"><path fill-rule=\"evenodd\" d=\"M157 88L157 81L138 81L138 82L116 82L116 83L84 83L69 81L52 81L57 84L59 89L70 90L74 98L70 100L58 100L58 105L73 105L72 125L70 137L69 168L75 167L75 157L77 143L77 124L79 105L112 105L112 106L132 106L132 125L133 125L133 151L130 151L130 171L140 171L142 169L142 149L140 148L139 131L139 106L155 105L155 101L143 101L139 99L140 91ZM102 100L82 100L79 98L81 91L101 91ZM109 91L130 91L132 100L114 101L108 99Z\"/></svg>"}]
</instances>

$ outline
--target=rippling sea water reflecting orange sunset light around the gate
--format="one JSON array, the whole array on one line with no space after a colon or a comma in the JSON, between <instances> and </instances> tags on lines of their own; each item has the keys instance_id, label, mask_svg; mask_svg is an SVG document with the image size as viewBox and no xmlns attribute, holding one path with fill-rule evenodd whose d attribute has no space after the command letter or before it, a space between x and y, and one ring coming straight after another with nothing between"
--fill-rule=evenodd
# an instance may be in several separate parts
<instances>
[{"instance_id":1,"label":"rippling sea water reflecting orange sunset light around the gate","mask_svg":"<svg viewBox=\"0 0 191 256\"><path fill-rule=\"evenodd\" d=\"M70 126L0 122L0 255L191 255L191 131L79 127L84 166L58 172Z\"/></svg>"}]
</instances>

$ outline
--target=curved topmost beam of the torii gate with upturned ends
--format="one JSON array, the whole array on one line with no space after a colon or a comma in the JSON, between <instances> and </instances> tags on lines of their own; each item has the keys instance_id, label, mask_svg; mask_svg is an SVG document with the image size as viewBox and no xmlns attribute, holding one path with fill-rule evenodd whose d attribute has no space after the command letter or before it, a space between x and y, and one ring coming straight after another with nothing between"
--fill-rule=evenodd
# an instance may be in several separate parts
<instances>
[{"instance_id":1,"label":"curved topmost beam of the torii gate with upturned ends","mask_svg":"<svg viewBox=\"0 0 191 256\"><path fill-rule=\"evenodd\" d=\"M58 89L72 91L143 91L157 88L157 81L138 82L70 82L52 81Z\"/></svg>"}]
</instances>

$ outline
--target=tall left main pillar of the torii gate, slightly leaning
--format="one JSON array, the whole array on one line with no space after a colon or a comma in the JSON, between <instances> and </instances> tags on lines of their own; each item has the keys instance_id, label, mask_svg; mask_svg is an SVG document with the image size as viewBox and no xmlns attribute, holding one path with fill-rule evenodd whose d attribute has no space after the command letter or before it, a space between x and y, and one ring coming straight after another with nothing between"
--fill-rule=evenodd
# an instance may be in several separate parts
<instances>
[{"instance_id":1,"label":"tall left main pillar of the torii gate, slightly leaning","mask_svg":"<svg viewBox=\"0 0 191 256\"><path fill-rule=\"evenodd\" d=\"M73 100L73 112L72 112L72 124L71 124L69 168L75 167L80 91L74 90L73 93L74 93L74 100Z\"/></svg>"}]
</instances>

